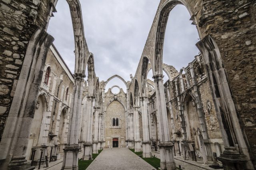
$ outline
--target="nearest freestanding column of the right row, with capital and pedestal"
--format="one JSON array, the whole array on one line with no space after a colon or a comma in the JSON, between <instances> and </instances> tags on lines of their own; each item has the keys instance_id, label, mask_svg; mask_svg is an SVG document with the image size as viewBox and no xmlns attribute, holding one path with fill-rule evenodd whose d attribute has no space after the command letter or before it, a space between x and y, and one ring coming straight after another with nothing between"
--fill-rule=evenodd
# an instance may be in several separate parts
<instances>
[{"instance_id":1,"label":"nearest freestanding column of the right row, with capital and pedestal","mask_svg":"<svg viewBox=\"0 0 256 170\"><path fill-rule=\"evenodd\" d=\"M170 142L168 119L166 111L166 101L164 96L163 75L154 76L156 86L156 108L158 111L158 138L160 140L160 168L162 170L174 170L176 164L174 162L173 144Z\"/></svg>"}]
</instances>

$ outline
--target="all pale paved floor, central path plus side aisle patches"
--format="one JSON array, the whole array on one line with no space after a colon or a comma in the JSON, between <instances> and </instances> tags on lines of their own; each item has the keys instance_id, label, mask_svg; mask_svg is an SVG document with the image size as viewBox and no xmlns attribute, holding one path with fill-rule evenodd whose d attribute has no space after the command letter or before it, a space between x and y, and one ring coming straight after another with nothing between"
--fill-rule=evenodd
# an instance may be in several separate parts
<instances>
[{"instance_id":1,"label":"all pale paved floor, central path plus side aisle patches","mask_svg":"<svg viewBox=\"0 0 256 170\"><path fill-rule=\"evenodd\" d=\"M160 158L159 152L152 151L152 156ZM79 153L79 158L81 157L82 152ZM200 159L195 162L184 160L182 156L176 156L175 162L176 166L180 165L182 170L214 170L208 165L204 165ZM43 168L44 166L40 170L60 170L62 159L50 162L48 168ZM155 170L155 168L127 148L112 148L104 149L86 170Z\"/></svg>"}]
</instances>

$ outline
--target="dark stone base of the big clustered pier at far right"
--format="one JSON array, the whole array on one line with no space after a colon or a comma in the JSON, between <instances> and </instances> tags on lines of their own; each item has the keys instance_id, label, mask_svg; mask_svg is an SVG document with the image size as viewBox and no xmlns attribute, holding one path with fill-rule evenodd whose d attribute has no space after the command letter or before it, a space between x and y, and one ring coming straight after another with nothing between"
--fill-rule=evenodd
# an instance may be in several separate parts
<instances>
[{"instance_id":1,"label":"dark stone base of the big clustered pier at far right","mask_svg":"<svg viewBox=\"0 0 256 170\"><path fill-rule=\"evenodd\" d=\"M247 157L237 152L236 148L225 148L223 154L220 154L217 159L222 162L224 170L253 170L246 167Z\"/></svg>"}]
</instances>

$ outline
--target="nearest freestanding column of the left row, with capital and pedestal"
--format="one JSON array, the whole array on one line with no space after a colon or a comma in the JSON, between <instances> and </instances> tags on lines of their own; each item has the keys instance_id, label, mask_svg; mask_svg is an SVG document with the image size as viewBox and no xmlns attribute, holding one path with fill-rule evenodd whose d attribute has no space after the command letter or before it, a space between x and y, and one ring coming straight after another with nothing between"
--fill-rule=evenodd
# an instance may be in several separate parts
<instances>
[{"instance_id":1,"label":"nearest freestanding column of the left row, with capital and pedestal","mask_svg":"<svg viewBox=\"0 0 256 170\"><path fill-rule=\"evenodd\" d=\"M78 136L81 130L81 109L82 109L82 89L84 83L83 74L74 74L74 88L72 104L69 118L67 145L65 146L62 170L78 170Z\"/></svg>"}]
</instances>

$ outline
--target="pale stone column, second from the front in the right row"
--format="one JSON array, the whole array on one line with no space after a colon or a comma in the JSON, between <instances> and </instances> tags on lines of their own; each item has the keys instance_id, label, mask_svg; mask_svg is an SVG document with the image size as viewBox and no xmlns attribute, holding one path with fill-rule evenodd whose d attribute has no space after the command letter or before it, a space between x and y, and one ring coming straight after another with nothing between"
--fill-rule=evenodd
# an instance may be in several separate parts
<instances>
[{"instance_id":1,"label":"pale stone column, second from the front in the right row","mask_svg":"<svg viewBox=\"0 0 256 170\"><path fill-rule=\"evenodd\" d=\"M142 131L143 131L143 141L142 141L142 150L143 157L150 158L151 154L151 142L149 137L148 129L148 98L143 96L140 98L141 114L142 114Z\"/></svg>"}]
</instances>

